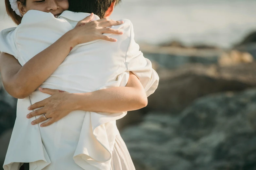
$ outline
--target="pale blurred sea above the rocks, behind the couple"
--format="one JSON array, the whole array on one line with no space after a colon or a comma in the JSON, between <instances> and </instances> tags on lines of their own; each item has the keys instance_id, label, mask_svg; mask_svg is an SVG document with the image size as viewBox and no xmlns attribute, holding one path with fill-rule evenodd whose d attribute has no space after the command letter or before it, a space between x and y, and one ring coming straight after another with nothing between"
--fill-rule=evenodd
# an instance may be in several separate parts
<instances>
[{"instance_id":1,"label":"pale blurred sea above the rocks, behind the couple","mask_svg":"<svg viewBox=\"0 0 256 170\"><path fill-rule=\"evenodd\" d=\"M132 21L137 42L231 47L256 31L255 0L123 0L111 19ZM0 0L0 30L15 26Z\"/></svg>"}]
</instances>

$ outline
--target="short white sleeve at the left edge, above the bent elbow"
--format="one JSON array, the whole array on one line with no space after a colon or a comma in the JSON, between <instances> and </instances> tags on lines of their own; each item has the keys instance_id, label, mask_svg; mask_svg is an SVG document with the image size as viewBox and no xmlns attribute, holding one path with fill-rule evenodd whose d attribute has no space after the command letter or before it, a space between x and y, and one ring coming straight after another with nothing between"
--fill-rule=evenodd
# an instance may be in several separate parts
<instances>
[{"instance_id":1,"label":"short white sleeve at the left edge, above the bent elbow","mask_svg":"<svg viewBox=\"0 0 256 170\"><path fill-rule=\"evenodd\" d=\"M13 27L13 28L2 30L0 32L0 52L8 53L10 55L13 55L16 59L18 59L17 48L15 44L15 39L16 39L15 29L16 27Z\"/></svg>"}]
</instances>

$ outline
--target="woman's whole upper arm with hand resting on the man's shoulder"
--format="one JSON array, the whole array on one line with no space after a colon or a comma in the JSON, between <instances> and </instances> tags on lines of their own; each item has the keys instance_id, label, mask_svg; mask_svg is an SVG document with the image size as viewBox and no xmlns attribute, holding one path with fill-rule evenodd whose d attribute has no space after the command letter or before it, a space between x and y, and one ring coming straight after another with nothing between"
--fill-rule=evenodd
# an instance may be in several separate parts
<instances>
[{"instance_id":1,"label":"woman's whole upper arm with hand resting on the man's shoulder","mask_svg":"<svg viewBox=\"0 0 256 170\"><path fill-rule=\"evenodd\" d=\"M50 77L77 44L95 39L116 41L111 37L102 35L102 33L122 34L118 30L105 28L111 25L120 25L122 22L107 21L107 19L91 21L92 19L93 15L90 15L79 21L73 30L67 32L51 46L35 55L23 67L14 56L1 53L0 72L6 91L15 98L25 98ZM83 24L81 25L81 23Z\"/></svg>"}]
</instances>

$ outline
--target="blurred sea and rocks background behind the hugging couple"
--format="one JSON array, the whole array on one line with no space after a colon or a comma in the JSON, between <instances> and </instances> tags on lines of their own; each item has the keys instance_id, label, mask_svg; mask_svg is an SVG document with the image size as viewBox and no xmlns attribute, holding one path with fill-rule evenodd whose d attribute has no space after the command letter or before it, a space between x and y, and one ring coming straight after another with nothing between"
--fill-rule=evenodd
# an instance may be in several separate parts
<instances>
[{"instance_id":1,"label":"blurred sea and rocks background behind the hugging couple","mask_svg":"<svg viewBox=\"0 0 256 170\"><path fill-rule=\"evenodd\" d=\"M117 122L137 170L256 170L256 1L123 0L160 77ZM0 30L15 26L0 1ZM16 102L0 86L0 164Z\"/></svg>"}]
</instances>

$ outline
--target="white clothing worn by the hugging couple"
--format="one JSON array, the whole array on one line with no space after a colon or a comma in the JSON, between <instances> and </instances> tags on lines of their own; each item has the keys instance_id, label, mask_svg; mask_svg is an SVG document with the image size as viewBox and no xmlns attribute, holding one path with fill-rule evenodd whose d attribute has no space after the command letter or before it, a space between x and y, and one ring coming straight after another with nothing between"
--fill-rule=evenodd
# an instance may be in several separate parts
<instances>
[{"instance_id":1,"label":"white clothing worn by the hugging couple","mask_svg":"<svg viewBox=\"0 0 256 170\"><path fill-rule=\"evenodd\" d=\"M14 55L24 65L89 15L64 11L56 19L51 13L30 10L16 29L0 33L0 51ZM96 19L99 18L95 16ZM123 31L123 35L106 34L116 38L117 42L95 40L77 45L40 87L72 93L92 92L126 86L129 71L132 71L140 79L147 96L152 94L159 77L134 41L132 23L123 21L123 24L112 27ZM115 120L127 112L76 110L50 126L31 125L31 121L39 116L27 119L30 112L27 107L49 96L37 90L25 99L18 99L17 118L4 170L18 170L23 162L30 163L30 170L110 170L118 166L113 165L111 159L122 157L113 155L121 150L116 149L119 132ZM124 152L129 154L125 148Z\"/></svg>"}]
</instances>

